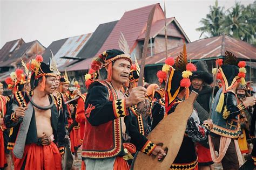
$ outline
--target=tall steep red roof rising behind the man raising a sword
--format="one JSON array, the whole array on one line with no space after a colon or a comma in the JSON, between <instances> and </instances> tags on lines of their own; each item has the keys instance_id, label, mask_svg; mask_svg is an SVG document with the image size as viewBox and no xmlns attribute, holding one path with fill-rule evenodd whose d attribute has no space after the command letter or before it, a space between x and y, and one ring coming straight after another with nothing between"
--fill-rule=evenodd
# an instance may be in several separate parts
<instances>
[{"instance_id":1,"label":"tall steep red roof rising behind the man raising a sword","mask_svg":"<svg viewBox=\"0 0 256 170\"><path fill-rule=\"evenodd\" d=\"M98 53L102 53L106 49L119 48L118 40L120 38L120 32L124 34L132 51L137 44L138 37L146 30L147 18L154 5L157 6L152 24L157 22L157 20L164 19L164 12L159 3L125 12Z\"/></svg>"}]
</instances>

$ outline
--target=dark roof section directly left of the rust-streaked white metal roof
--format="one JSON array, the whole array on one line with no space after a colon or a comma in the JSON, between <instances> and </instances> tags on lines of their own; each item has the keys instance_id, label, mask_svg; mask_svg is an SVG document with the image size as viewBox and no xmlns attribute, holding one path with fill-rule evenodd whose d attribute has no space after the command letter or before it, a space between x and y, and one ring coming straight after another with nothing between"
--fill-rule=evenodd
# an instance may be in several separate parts
<instances>
[{"instance_id":1,"label":"dark roof section directly left of the rust-streaked white metal roof","mask_svg":"<svg viewBox=\"0 0 256 170\"><path fill-rule=\"evenodd\" d=\"M44 58L44 62L45 63L48 63L49 62L49 59L51 57L51 51L53 53L53 55L55 55L58 51L59 51L59 48L62 47L62 45L66 42L68 38L64 38L64 39L61 39L61 40L57 40L57 41L53 41L49 47L47 47L43 53L43 58Z\"/></svg>"}]
</instances>

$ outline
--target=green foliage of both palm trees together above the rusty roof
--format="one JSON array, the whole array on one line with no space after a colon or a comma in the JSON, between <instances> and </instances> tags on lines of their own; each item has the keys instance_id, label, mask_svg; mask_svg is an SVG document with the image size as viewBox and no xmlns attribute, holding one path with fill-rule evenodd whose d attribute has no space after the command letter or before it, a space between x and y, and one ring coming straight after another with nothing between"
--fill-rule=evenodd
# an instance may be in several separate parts
<instances>
[{"instance_id":1,"label":"green foliage of both palm trees together above the rusty roof","mask_svg":"<svg viewBox=\"0 0 256 170\"><path fill-rule=\"evenodd\" d=\"M206 18L202 18L200 23L203 25L196 29L201 32L201 36L215 37L227 34L230 37L256 44L256 1L247 6L236 2L232 8L224 11L224 7L210 6L210 12ZM208 36L206 36L208 35Z\"/></svg>"}]
</instances>

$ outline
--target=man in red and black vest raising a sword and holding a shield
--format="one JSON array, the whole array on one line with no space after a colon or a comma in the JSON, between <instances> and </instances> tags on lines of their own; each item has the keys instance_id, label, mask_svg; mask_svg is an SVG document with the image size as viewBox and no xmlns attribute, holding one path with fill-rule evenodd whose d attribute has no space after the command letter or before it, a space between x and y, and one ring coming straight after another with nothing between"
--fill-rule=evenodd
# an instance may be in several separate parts
<instances>
[{"instance_id":1,"label":"man in red and black vest raising a sword and holding a shield","mask_svg":"<svg viewBox=\"0 0 256 170\"><path fill-rule=\"evenodd\" d=\"M131 56L118 49L107 50L92 62L92 69L99 70L104 80L93 82L86 96L82 152L86 169L129 169L126 160L136 150L165 155L161 146L131 124L129 107L144 102L146 93L137 87L125 97L122 87L128 86L131 63Z\"/></svg>"}]
</instances>

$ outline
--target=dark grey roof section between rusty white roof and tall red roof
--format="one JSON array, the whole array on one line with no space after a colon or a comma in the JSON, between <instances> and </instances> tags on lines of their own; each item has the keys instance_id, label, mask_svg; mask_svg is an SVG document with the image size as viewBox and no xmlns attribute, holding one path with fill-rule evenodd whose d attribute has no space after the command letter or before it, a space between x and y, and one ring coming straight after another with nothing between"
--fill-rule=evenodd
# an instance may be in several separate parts
<instances>
[{"instance_id":1,"label":"dark grey roof section between rusty white roof and tall red roof","mask_svg":"<svg viewBox=\"0 0 256 170\"><path fill-rule=\"evenodd\" d=\"M77 57L87 59L97 55L97 52L104 44L107 37L109 37L109 34L112 32L117 22L118 20L100 24L95 32L93 32L91 38L87 41L83 49L78 53Z\"/></svg>"}]
</instances>

